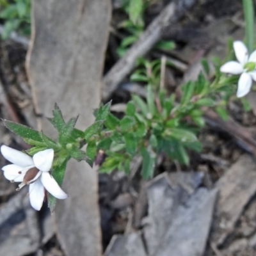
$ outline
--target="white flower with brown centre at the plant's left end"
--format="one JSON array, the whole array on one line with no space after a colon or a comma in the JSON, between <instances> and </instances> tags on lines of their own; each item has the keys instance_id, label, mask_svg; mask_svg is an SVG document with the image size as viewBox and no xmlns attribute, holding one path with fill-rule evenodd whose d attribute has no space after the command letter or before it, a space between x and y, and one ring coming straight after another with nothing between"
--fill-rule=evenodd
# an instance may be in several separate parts
<instances>
[{"instance_id":1,"label":"white flower with brown centre at the plant's left end","mask_svg":"<svg viewBox=\"0 0 256 256\"><path fill-rule=\"evenodd\" d=\"M2 168L4 177L11 182L21 182L19 191L29 185L29 200L32 207L39 211L45 198L45 189L58 199L67 198L67 194L60 188L56 180L49 173L54 157L53 149L46 149L30 157L18 150L2 146L1 153L13 164Z\"/></svg>"}]
</instances>

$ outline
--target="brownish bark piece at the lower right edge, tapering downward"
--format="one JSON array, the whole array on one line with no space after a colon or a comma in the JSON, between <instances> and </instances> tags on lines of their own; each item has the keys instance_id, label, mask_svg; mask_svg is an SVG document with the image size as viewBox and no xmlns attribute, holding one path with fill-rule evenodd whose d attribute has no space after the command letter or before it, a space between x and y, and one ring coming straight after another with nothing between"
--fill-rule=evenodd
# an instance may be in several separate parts
<instances>
[{"instance_id":1,"label":"brownish bark piece at the lower right edge, tapering downward","mask_svg":"<svg viewBox=\"0 0 256 256\"><path fill-rule=\"evenodd\" d=\"M219 195L216 204L211 242L221 246L234 230L244 207L256 193L256 161L248 154L225 172L215 185Z\"/></svg>"}]
</instances>

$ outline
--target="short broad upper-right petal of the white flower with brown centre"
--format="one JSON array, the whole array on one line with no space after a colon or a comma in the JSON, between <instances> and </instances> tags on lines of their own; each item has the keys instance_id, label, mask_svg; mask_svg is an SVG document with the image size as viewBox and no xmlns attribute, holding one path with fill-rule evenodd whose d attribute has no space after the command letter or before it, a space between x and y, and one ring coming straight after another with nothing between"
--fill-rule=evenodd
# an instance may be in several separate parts
<instances>
[{"instance_id":1,"label":"short broad upper-right petal of the white flower with brown centre","mask_svg":"<svg viewBox=\"0 0 256 256\"><path fill-rule=\"evenodd\" d=\"M33 160L36 168L38 168L42 172L49 172L52 167L52 161L54 157L54 150L52 148L45 149L36 153L33 156Z\"/></svg>"}]
</instances>

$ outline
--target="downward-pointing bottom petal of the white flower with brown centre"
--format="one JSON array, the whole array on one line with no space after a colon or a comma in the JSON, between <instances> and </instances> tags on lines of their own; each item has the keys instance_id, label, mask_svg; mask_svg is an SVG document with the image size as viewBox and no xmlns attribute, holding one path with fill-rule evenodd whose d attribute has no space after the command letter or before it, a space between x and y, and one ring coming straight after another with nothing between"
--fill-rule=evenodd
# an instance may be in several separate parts
<instances>
[{"instance_id":1,"label":"downward-pointing bottom petal of the white flower with brown centre","mask_svg":"<svg viewBox=\"0 0 256 256\"><path fill-rule=\"evenodd\" d=\"M44 203L45 191L40 179L29 185L29 200L31 206L39 211Z\"/></svg>"}]
</instances>

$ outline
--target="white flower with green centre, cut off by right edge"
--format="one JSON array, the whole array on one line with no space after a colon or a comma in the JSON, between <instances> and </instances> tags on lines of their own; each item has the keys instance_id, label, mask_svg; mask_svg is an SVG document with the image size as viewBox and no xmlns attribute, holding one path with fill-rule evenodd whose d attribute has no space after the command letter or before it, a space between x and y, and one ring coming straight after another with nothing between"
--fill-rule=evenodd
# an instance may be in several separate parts
<instances>
[{"instance_id":1,"label":"white flower with green centre, cut off by right edge","mask_svg":"<svg viewBox=\"0 0 256 256\"><path fill-rule=\"evenodd\" d=\"M249 56L248 49L241 41L233 44L238 61L228 61L221 66L220 71L233 75L241 74L238 81L237 97L243 97L252 87L252 80L256 81L256 51Z\"/></svg>"}]
</instances>

